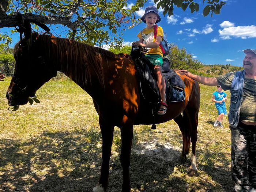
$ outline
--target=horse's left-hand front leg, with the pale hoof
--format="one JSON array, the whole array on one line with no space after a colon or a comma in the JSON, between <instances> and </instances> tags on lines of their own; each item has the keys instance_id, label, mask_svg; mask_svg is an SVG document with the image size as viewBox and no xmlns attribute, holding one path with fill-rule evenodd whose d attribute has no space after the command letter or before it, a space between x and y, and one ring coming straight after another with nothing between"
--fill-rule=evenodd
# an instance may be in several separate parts
<instances>
[{"instance_id":1,"label":"horse's left-hand front leg, with the pale hoof","mask_svg":"<svg viewBox=\"0 0 256 192\"><path fill-rule=\"evenodd\" d=\"M102 165L99 184L93 188L93 192L104 192L108 188L109 181L109 159L113 142L114 125L108 124L99 118L99 126L102 135Z\"/></svg>"}]
</instances>

